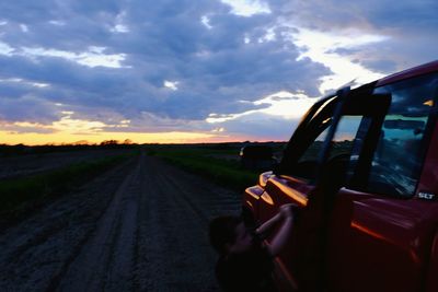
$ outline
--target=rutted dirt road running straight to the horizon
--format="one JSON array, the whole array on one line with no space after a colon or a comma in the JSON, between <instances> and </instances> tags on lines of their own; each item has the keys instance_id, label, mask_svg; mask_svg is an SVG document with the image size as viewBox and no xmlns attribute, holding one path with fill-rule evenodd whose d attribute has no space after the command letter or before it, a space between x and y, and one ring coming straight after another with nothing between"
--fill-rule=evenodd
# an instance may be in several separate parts
<instances>
[{"instance_id":1,"label":"rutted dirt road running straight to the horizon","mask_svg":"<svg viewBox=\"0 0 438 292\"><path fill-rule=\"evenodd\" d=\"M0 234L0 291L218 291L208 221L239 194L145 154Z\"/></svg>"}]
</instances>

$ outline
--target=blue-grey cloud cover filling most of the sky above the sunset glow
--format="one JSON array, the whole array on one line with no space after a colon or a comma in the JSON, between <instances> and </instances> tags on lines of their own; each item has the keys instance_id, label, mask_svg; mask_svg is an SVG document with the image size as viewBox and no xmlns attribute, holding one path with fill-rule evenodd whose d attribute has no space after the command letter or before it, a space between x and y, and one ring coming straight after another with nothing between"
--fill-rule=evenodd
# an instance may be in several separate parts
<instances>
[{"instance_id":1,"label":"blue-grey cloud cover filling most of the sky above the sunset glow","mask_svg":"<svg viewBox=\"0 0 438 292\"><path fill-rule=\"evenodd\" d=\"M296 27L384 36L332 50L383 73L437 56L437 1L268 3L272 13L242 16L220 1L2 1L0 118L49 124L72 110L108 124L206 129L197 122L209 114L263 108L252 102L278 91L318 96L320 78L331 72L298 58ZM264 117L226 128L286 135L276 127L289 121Z\"/></svg>"}]
</instances>

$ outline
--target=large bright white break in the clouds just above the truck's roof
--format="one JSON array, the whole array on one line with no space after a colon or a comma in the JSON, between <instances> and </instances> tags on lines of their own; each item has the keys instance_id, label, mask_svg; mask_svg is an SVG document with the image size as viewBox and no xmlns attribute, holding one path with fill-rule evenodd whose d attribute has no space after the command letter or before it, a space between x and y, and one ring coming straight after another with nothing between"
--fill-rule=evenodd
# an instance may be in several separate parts
<instances>
[{"instance_id":1,"label":"large bright white break in the clouds just above the truck's roof","mask_svg":"<svg viewBox=\"0 0 438 292\"><path fill-rule=\"evenodd\" d=\"M367 35L354 31L335 34L299 28L293 43L301 47L301 55L298 60L309 57L312 61L324 63L333 71L334 74L322 78L320 92L324 93L338 89L353 80L357 84L364 84L382 78L383 74L368 70L360 63L355 63L348 57L336 54L335 50L357 48L385 39L385 36Z\"/></svg>"}]
</instances>

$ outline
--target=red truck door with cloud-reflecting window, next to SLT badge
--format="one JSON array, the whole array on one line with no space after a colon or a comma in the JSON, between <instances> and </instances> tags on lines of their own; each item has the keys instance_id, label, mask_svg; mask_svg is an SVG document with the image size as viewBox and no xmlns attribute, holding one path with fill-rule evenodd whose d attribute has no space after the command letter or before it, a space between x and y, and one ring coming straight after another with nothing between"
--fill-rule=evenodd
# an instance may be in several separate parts
<instances>
[{"instance_id":1,"label":"red truck door with cloud-reflecting window, next to SLT badge","mask_svg":"<svg viewBox=\"0 0 438 292\"><path fill-rule=\"evenodd\" d=\"M327 291L425 289L437 203L422 199L434 190L418 184L436 124L437 89L433 73L373 91L390 95L391 104L381 122L371 125L365 115L351 132L346 178L326 215ZM337 127L335 137L349 130Z\"/></svg>"}]
</instances>

